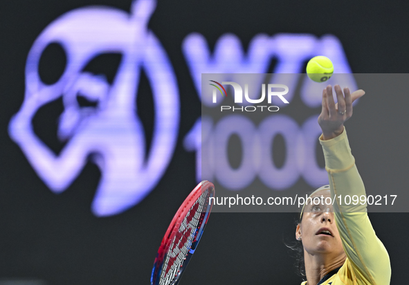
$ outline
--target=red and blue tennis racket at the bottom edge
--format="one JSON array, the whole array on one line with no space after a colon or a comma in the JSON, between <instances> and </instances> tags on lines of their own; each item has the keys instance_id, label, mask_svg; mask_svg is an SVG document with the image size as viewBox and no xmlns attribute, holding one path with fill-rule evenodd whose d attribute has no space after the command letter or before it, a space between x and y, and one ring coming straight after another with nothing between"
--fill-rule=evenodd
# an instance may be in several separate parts
<instances>
[{"instance_id":1,"label":"red and blue tennis racket at the bottom edge","mask_svg":"<svg viewBox=\"0 0 409 285\"><path fill-rule=\"evenodd\" d=\"M176 285L192 257L208 222L215 185L202 181L174 215L152 269L152 285Z\"/></svg>"}]
</instances>

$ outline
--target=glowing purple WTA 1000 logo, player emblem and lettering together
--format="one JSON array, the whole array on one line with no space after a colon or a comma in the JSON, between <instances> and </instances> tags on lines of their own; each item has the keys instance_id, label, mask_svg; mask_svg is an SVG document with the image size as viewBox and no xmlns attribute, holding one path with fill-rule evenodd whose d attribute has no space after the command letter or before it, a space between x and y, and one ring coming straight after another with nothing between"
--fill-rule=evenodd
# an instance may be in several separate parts
<instances>
[{"instance_id":1,"label":"glowing purple WTA 1000 logo, player emblem and lettering together","mask_svg":"<svg viewBox=\"0 0 409 285\"><path fill-rule=\"evenodd\" d=\"M179 90L163 46L147 28L155 6L154 0L135 0L131 12L103 6L66 12L43 30L28 53L24 102L10 121L10 138L54 193L64 192L91 158L101 172L91 205L97 216L118 214L142 201L160 181L174 154L179 133ZM59 44L64 50L66 66L60 78L48 84L39 75L39 63L52 44ZM215 179L227 185L228 190L238 191L256 176L271 190L287 190L301 176L312 187L327 180L327 172L318 165L315 156L316 138L320 134L316 125L318 115L298 122L291 116L272 113L289 106L298 84L300 99L306 107L320 106L320 84L302 79L300 74L303 62L316 54L330 57L336 72L344 74L338 78L338 84L356 88L339 39L334 35L258 34L245 50L237 35L221 35L215 47L210 48L206 37L190 33L181 48L202 107L220 108L228 115L219 122L200 116L188 134L182 134L185 150L195 153L198 182ZM105 53L122 56L113 81L86 71L87 64ZM270 66L272 59L278 59L275 66ZM136 106L141 71L147 75L154 102L149 146L145 143L149 140L145 140L143 113ZM262 73L273 76L268 82L264 82L265 77L252 82L240 80L241 74ZM201 89L203 74L212 74L205 80L206 92ZM331 80L334 77L329 84ZM239 86L236 82L243 84ZM257 89L260 86L262 92ZM227 97L227 88L233 92L231 98ZM248 103L264 101L264 96L268 104L274 105L269 106L271 109L249 106ZM80 104L81 97L93 104ZM64 111L58 120L57 136L65 145L55 154L35 134L32 121L40 108L58 99L62 100ZM240 105L222 106L228 100ZM274 116L258 126L236 116L239 109L244 113L255 108L264 113L270 111ZM233 169L227 160L226 143L232 134L237 134L244 146L239 169ZM263 160L265 165L260 165L253 159L255 138L260 137L263 145L268 146L278 134L284 138L287 149L284 165L275 167L267 159ZM271 158L271 148L261 149L262 157ZM209 161L202 160L202 155Z\"/></svg>"}]
</instances>

